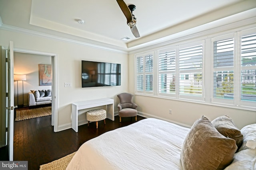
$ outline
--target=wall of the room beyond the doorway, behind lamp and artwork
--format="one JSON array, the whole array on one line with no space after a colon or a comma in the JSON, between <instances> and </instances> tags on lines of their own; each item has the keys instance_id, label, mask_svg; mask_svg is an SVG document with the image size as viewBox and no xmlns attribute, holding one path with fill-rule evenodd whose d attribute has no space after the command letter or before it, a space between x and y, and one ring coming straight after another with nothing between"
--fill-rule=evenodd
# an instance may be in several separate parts
<instances>
[{"instance_id":1,"label":"wall of the room beyond the doorway, behind lamp and artwork","mask_svg":"<svg viewBox=\"0 0 256 170\"><path fill-rule=\"evenodd\" d=\"M30 90L48 90L52 86L39 86L38 64L51 64L51 57L44 55L14 52L14 74L26 74L26 81L23 81L24 106L28 106L28 92ZM22 105L22 81L14 81L14 105ZM18 100L17 100L17 97Z\"/></svg>"}]
</instances>

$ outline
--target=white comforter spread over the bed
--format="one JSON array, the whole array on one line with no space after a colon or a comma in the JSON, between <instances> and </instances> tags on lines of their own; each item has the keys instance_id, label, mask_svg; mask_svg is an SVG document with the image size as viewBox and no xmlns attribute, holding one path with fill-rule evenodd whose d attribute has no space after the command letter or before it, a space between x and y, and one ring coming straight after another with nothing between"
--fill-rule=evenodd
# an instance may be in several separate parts
<instances>
[{"instance_id":1,"label":"white comforter spread over the bed","mask_svg":"<svg viewBox=\"0 0 256 170\"><path fill-rule=\"evenodd\" d=\"M67 170L182 170L189 128L147 118L84 143Z\"/></svg>"}]
</instances>

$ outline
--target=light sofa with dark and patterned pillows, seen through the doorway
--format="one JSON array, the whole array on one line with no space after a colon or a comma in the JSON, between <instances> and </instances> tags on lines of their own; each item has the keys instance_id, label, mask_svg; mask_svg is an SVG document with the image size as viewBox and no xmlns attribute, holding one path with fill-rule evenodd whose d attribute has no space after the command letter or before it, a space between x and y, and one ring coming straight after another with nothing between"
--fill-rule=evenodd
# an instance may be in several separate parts
<instances>
[{"instance_id":1,"label":"light sofa with dark and patterned pillows, seen through the doorway","mask_svg":"<svg viewBox=\"0 0 256 170\"><path fill-rule=\"evenodd\" d=\"M28 106L52 104L51 90L30 90L28 93Z\"/></svg>"}]
</instances>

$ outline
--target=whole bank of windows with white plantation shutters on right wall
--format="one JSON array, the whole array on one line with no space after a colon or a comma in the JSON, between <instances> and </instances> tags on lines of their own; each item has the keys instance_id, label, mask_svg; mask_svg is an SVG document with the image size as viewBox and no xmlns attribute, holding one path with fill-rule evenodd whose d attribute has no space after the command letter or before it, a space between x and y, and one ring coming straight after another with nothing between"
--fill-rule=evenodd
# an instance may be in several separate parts
<instances>
[{"instance_id":1,"label":"whole bank of windows with white plantation shutters on right wall","mask_svg":"<svg viewBox=\"0 0 256 170\"><path fill-rule=\"evenodd\" d=\"M136 55L135 93L255 107L256 28L195 40ZM153 54L158 54L157 60Z\"/></svg>"}]
</instances>

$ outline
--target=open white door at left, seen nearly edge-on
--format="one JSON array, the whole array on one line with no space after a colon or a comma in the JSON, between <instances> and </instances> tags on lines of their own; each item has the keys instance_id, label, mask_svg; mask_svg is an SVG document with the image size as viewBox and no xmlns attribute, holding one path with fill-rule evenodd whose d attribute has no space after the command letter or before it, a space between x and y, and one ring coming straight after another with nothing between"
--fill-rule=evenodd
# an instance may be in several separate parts
<instances>
[{"instance_id":1,"label":"open white door at left, seen nearly edge-on","mask_svg":"<svg viewBox=\"0 0 256 170\"><path fill-rule=\"evenodd\" d=\"M12 62L11 62L12 61ZM7 53L6 82L8 97L6 104L6 114L8 119L7 145L9 160L13 160L13 135L14 135L14 80L13 80L13 42L10 41Z\"/></svg>"}]
</instances>

